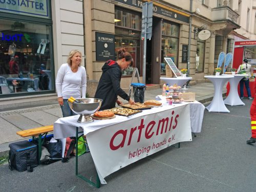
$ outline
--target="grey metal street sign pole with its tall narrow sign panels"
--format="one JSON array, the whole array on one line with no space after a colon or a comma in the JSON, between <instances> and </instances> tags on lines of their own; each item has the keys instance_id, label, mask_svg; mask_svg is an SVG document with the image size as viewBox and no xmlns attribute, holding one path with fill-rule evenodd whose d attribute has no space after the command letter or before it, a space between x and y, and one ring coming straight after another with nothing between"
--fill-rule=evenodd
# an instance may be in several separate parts
<instances>
[{"instance_id":1,"label":"grey metal street sign pole with its tall narrow sign panels","mask_svg":"<svg viewBox=\"0 0 256 192\"><path fill-rule=\"evenodd\" d=\"M142 26L141 38L144 40L143 46L143 83L146 84L146 39L151 39L153 22L153 3L144 3L142 5Z\"/></svg>"}]
</instances>

